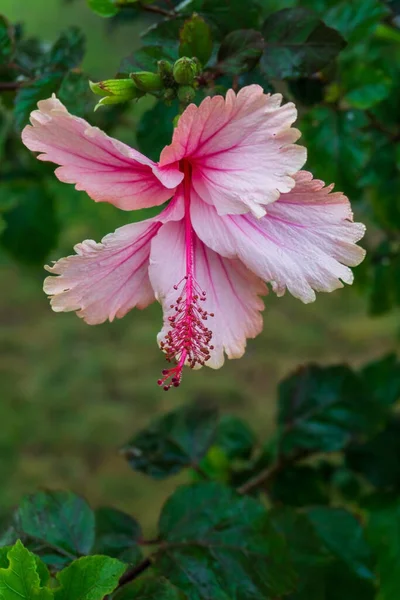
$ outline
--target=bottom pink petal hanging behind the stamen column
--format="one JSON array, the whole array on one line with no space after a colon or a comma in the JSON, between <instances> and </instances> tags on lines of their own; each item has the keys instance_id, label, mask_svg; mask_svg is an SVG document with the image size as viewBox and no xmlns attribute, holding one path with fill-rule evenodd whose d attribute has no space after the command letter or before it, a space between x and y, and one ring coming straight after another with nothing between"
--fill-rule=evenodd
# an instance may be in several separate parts
<instances>
[{"instance_id":1,"label":"bottom pink petal hanging behind the stamen column","mask_svg":"<svg viewBox=\"0 0 400 600\"><path fill-rule=\"evenodd\" d=\"M159 342L170 328L168 317L174 314L171 305L175 304L179 294L173 286L184 277L185 268L184 223L168 223L152 242L149 269L152 286L164 311L164 327L158 336ZM211 344L214 349L206 364L218 369L224 363L224 351L228 358L240 358L246 348L246 338L254 338L260 333L260 311L264 304L259 296L266 294L267 289L240 261L219 256L197 236L194 240L194 268L196 282L207 294L202 308L214 313L214 317L207 320L207 327L213 333Z\"/></svg>"}]
</instances>

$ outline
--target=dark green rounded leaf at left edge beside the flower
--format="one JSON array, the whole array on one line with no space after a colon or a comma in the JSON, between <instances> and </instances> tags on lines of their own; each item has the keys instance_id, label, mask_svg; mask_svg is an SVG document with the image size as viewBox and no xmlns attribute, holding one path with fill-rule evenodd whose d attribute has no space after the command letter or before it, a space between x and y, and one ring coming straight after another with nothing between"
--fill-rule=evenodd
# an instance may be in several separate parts
<instances>
[{"instance_id":1,"label":"dark green rounded leaf at left edge beside the flower","mask_svg":"<svg viewBox=\"0 0 400 600\"><path fill-rule=\"evenodd\" d=\"M13 203L3 214L6 228L0 235L0 245L23 263L43 264L58 241L54 199L40 182L7 186L7 190Z\"/></svg>"}]
</instances>

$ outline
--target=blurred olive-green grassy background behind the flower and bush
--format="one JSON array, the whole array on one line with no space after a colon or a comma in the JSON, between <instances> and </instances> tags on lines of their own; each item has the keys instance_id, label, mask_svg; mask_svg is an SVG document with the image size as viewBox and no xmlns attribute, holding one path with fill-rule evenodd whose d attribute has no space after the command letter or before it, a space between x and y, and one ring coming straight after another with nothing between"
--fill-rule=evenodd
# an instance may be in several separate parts
<instances>
[{"instance_id":1,"label":"blurred olive-green grassy background behind the flower and bush","mask_svg":"<svg viewBox=\"0 0 400 600\"><path fill-rule=\"evenodd\" d=\"M0 4L11 21L24 21L29 34L49 42L66 26L79 25L88 38L84 68L93 79L112 76L143 30L138 21L110 28L81 1ZM143 109L135 109L120 132L133 145ZM318 164L312 169L318 175ZM126 213L97 205L55 178L54 194L64 228L52 259L129 221ZM50 310L42 292L44 271L5 256L0 261L0 512L38 487L71 488L95 505L114 504L150 525L176 481L157 484L132 473L118 449L152 417L212 396L223 410L268 433L277 382L299 364L358 365L399 348L398 312L372 319L356 288L321 294L312 305L271 294L264 332L249 342L243 359L219 371L186 373L182 387L166 394L156 384L164 368L156 345L158 306L90 327L74 314Z\"/></svg>"}]
</instances>

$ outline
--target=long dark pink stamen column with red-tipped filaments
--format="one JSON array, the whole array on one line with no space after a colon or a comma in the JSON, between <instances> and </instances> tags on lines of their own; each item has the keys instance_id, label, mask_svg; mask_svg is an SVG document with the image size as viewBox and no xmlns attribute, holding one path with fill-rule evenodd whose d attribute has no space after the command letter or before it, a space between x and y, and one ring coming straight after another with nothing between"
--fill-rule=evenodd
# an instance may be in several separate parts
<instances>
[{"instance_id":1,"label":"long dark pink stamen column with red-tipped filaments","mask_svg":"<svg viewBox=\"0 0 400 600\"><path fill-rule=\"evenodd\" d=\"M175 303L170 305L173 311L173 314L168 317L170 328L160 343L161 349L166 354L166 360L176 363L174 367L164 369L163 377L158 380L158 385L163 386L166 391L172 386L180 385L185 364L191 369L196 365L203 366L210 359L210 351L214 349L211 345L212 332L205 325L205 321L214 314L202 307L202 303L206 302L207 294L200 289L195 278L195 233L190 219L190 163L182 161L181 170L185 174L183 185L186 273L182 280L174 285L174 290L179 292L179 295Z\"/></svg>"}]
</instances>

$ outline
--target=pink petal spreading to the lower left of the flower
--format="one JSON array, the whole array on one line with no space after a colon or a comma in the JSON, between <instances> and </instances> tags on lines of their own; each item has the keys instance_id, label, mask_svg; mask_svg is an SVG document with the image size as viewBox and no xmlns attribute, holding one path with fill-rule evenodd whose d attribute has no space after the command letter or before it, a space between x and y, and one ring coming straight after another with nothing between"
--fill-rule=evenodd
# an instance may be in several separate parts
<instances>
[{"instance_id":1,"label":"pink petal spreading to the lower left of the flower","mask_svg":"<svg viewBox=\"0 0 400 600\"><path fill-rule=\"evenodd\" d=\"M158 217L120 227L101 243L85 240L76 254L46 267L52 275L44 282L55 312L77 311L90 325L123 317L155 300L148 267L151 241L163 222L181 219L179 197Z\"/></svg>"}]
</instances>

